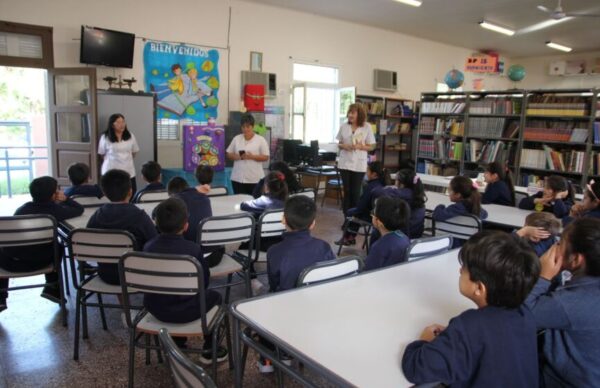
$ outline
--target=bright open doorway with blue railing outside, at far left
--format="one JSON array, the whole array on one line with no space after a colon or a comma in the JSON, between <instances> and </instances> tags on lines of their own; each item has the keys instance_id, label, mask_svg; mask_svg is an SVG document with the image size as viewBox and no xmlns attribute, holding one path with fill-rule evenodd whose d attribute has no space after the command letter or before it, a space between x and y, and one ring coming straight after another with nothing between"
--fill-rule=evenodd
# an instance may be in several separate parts
<instances>
[{"instance_id":1,"label":"bright open doorway with blue railing outside, at far left","mask_svg":"<svg viewBox=\"0 0 600 388\"><path fill-rule=\"evenodd\" d=\"M0 196L14 199L2 201L3 214L29 199L33 178L50 172L46 90L45 69L0 66Z\"/></svg>"}]
</instances>

